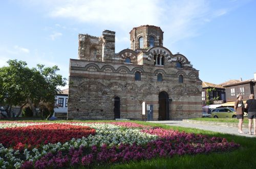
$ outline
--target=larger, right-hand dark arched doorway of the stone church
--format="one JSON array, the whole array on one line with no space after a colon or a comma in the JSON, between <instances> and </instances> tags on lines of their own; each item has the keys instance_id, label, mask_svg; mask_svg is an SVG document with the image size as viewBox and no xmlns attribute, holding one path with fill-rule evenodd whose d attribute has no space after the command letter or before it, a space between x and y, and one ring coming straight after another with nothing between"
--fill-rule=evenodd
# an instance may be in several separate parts
<instances>
[{"instance_id":1,"label":"larger, right-hand dark arched doorway of the stone church","mask_svg":"<svg viewBox=\"0 0 256 169\"><path fill-rule=\"evenodd\" d=\"M169 95L167 92L159 93L158 120L169 120Z\"/></svg>"}]
</instances>

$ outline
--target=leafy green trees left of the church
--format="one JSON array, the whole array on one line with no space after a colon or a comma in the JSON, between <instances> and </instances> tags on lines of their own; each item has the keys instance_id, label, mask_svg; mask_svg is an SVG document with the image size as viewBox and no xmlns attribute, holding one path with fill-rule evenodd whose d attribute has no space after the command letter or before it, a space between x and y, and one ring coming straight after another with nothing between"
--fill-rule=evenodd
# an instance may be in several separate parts
<instances>
[{"instance_id":1,"label":"leafy green trees left of the church","mask_svg":"<svg viewBox=\"0 0 256 169\"><path fill-rule=\"evenodd\" d=\"M59 68L37 65L30 69L26 62L17 60L7 63L9 66L0 68L0 103L7 106L8 117L13 106L22 108L27 103L33 116L36 116L35 107L39 108L40 104L53 109L46 104L54 104L55 95L60 91L58 86L66 85L66 78L56 73Z\"/></svg>"}]
</instances>

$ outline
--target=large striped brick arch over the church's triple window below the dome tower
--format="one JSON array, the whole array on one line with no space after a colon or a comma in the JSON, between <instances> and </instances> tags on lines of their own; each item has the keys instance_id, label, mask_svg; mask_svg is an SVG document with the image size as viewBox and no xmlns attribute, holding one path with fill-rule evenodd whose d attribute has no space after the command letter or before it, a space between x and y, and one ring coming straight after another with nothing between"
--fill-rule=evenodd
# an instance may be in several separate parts
<instances>
[{"instance_id":1,"label":"large striped brick arch over the church's triple window below the dome tower","mask_svg":"<svg viewBox=\"0 0 256 169\"><path fill-rule=\"evenodd\" d=\"M168 62L173 58L172 52L170 52L167 48L163 46L154 46L147 50L147 60L154 60L155 54L162 54L168 60Z\"/></svg>"}]
</instances>

